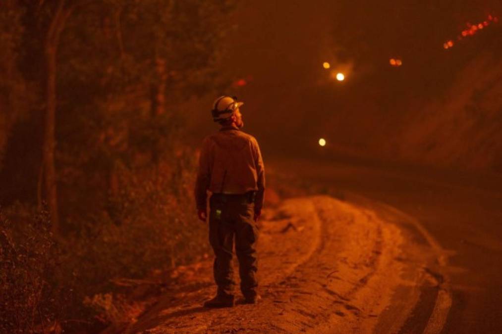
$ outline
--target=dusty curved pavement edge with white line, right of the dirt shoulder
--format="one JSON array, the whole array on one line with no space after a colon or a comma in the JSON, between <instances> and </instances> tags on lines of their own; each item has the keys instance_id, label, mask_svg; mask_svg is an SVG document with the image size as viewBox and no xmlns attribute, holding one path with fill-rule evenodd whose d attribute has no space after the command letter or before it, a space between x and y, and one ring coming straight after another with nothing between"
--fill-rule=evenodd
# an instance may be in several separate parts
<instances>
[{"instance_id":1,"label":"dusty curved pavement edge with white line, right of the dirt shoulder","mask_svg":"<svg viewBox=\"0 0 502 334\"><path fill-rule=\"evenodd\" d=\"M412 231L408 239L418 237L420 240L413 243L413 247L407 247L404 257L399 258L407 258L404 271L408 274L402 276L410 276L409 272L413 271L415 279L404 279L398 286L393 305L380 318L375 332L387 333L390 328L396 333L441 332L452 305L449 279L444 274L451 269L448 257L452 253L444 250L414 217L382 203L370 201L369 207L379 212L385 221L400 225L403 231ZM396 303L400 298L413 302Z\"/></svg>"}]
</instances>

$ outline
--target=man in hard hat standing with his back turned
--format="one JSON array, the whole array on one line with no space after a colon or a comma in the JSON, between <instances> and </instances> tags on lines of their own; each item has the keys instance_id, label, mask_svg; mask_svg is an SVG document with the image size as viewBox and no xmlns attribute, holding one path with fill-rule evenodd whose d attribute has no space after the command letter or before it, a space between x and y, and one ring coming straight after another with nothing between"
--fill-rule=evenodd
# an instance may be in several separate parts
<instances>
[{"instance_id":1,"label":"man in hard hat standing with his back turned","mask_svg":"<svg viewBox=\"0 0 502 334\"><path fill-rule=\"evenodd\" d=\"M206 192L212 193L209 242L214 250L213 271L218 286L216 296L206 301L205 307L234 305L234 240L243 302L255 304L259 299L256 222L263 207L265 170L257 140L240 130L244 125L239 111L242 104L230 96L214 101L211 113L221 128L204 139L200 152L195 200L199 219L205 222Z\"/></svg>"}]
</instances>

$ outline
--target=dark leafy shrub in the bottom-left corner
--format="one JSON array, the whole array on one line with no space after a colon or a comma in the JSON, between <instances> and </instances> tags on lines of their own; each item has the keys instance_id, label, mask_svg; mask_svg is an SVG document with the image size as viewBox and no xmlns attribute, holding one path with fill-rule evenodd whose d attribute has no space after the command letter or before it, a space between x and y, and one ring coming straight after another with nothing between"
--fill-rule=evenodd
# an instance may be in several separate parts
<instances>
[{"instance_id":1,"label":"dark leafy shrub in the bottom-left corner","mask_svg":"<svg viewBox=\"0 0 502 334\"><path fill-rule=\"evenodd\" d=\"M48 277L56 267L55 242L46 213L34 220L26 209L13 228L0 212L0 323L1 332L33 332L54 318ZM48 300L49 299L49 300Z\"/></svg>"}]
</instances>

